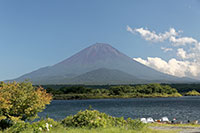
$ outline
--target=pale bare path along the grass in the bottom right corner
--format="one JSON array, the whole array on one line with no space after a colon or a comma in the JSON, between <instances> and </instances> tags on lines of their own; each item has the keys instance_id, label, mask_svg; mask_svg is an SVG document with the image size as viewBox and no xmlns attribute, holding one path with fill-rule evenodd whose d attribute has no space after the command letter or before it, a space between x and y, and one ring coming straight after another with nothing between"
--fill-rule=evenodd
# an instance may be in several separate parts
<instances>
[{"instance_id":1,"label":"pale bare path along the grass in the bottom right corner","mask_svg":"<svg viewBox=\"0 0 200 133\"><path fill-rule=\"evenodd\" d=\"M172 130L178 131L178 133L200 133L200 127L191 126L150 126L149 128L155 130Z\"/></svg>"}]
</instances>

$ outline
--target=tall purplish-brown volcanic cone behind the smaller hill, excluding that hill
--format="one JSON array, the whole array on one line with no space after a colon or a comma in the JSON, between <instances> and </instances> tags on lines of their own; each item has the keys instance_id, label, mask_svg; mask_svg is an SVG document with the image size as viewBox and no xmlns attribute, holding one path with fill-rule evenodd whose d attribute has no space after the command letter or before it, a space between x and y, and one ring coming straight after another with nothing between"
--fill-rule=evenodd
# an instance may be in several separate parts
<instances>
[{"instance_id":1,"label":"tall purplish-brown volcanic cone behind the smaller hill, excluding that hill","mask_svg":"<svg viewBox=\"0 0 200 133\"><path fill-rule=\"evenodd\" d=\"M33 83L51 84L51 83L69 83L73 78L91 72L100 68L119 70L128 73L141 80L159 80L168 82L184 82L187 80L167 75L149 68L132 58L121 53L108 44L97 43L70 58L55 64L25 74L17 81L30 79ZM65 80L64 80L65 79ZM64 81L63 81L64 80ZM99 79L94 79L94 81ZM86 81L85 81L86 82Z\"/></svg>"}]
</instances>

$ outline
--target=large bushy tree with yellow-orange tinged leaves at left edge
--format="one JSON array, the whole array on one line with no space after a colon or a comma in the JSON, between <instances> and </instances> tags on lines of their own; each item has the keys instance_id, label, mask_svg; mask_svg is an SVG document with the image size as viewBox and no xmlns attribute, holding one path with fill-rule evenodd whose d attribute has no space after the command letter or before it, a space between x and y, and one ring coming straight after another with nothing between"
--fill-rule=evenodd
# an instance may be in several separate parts
<instances>
[{"instance_id":1,"label":"large bushy tree with yellow-orange tinged leaves at left edge","mask_svg":"<svg viewBox=\"0 0 200 133\"><path fill-rule=\"evenodd\" d=\"M0 121L31 120L50 104L52 96L30 82L0 83Z\"/></svg>"}]
</instances>

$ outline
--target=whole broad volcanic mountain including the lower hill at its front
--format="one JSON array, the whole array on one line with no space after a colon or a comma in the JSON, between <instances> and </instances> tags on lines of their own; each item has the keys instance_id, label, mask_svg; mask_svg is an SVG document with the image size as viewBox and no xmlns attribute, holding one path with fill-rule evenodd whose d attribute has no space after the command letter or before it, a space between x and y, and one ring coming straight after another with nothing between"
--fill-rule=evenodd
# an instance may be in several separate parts
<instances>
[{"instance_id":1,"label":"whole broad volcanic mountain including the lower hill at its front","mask_svg":"<svg viewBox=\"0 0 200 133\"><path fill-rule=\"evenodd\" d=\"M34 84L112 84L149 82L191 82L149 68L109 44L96 43L53 66L25 74L16 81Z\"/></svg>"}]
</instances>

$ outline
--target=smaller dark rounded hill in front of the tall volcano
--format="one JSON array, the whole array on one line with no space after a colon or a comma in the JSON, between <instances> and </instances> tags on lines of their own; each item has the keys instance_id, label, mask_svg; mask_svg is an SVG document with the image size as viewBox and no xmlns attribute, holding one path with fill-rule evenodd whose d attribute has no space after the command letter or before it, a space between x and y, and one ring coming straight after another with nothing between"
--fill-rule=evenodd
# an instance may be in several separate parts
<instances>
[{"instance_id":1,"label":"smaller dark rounded hill in front of the tall volcano","mask_svg":"<svg viewBox=\"0 0 200 133\"><path fill-rule=\"evenodd\" d=\"M120 70L100 68L93 70L70 80L73 84L130 84L141 83L144 80L138 79Z\"/></svg>"}]
</instances>

